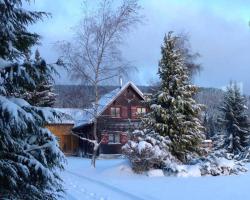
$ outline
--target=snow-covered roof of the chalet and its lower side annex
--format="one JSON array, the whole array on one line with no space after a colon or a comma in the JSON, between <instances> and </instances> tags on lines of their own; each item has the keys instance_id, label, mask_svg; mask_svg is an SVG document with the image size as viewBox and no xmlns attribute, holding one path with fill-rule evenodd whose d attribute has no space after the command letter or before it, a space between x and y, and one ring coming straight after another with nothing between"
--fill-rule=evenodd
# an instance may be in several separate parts
<instances>
[{"instance_id":1,"label":"snow-covered roof of the chalet and its lower side annex","mask_svg":"<svg viewBox=\"0 0 250 200\"><path fill-rule=\"evenodd\" d=\"M115 90L103 95L99 99L99 105L97 114L100 116L106 108L112 104L116 98L129 86L131 86L138 95L144 99L142 92L132 83L128 82L122 88L116 88ZM76 108L55 108L56 111L62 113L62 117L59 120L53 121L51 123L62 123L62 124L74 124L74 127L84 126L86 124L93 123L94 108L88 109L76 109Z\"/></svg>"}]
</instances>

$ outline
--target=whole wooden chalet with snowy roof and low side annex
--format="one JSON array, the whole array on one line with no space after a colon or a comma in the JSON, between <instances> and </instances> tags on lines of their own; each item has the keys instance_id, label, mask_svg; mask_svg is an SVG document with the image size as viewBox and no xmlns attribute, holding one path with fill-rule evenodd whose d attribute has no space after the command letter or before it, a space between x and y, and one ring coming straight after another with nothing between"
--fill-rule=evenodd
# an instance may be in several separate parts
<instances>
[{"instance_id":1,"label":"whole wooden chalet with snowy roof and low side annex","mask_svg":"<svg viewBox=\"0 0 250 200\"><path fill-rule=\"evenodd\" d=\"M99 99L97 135L98 140L102 141L100 154L121 153L121 147L127 142L129 133L139 127L139 115L147 112L143 101L142 92L132 82ZM60 134L56 128L59 127L58 124L49 124L50 130L59 138L62 150L65 153L92 154L93 145L80 139L77 139L76 144L77 137L72 135L71 131L79 136L93 139L93 109L59 109L59 111L71 115L74 121L71 130L61 131ZM69 136L70 142L63 139L69 139Z\"/></svg>"}]
</instances>

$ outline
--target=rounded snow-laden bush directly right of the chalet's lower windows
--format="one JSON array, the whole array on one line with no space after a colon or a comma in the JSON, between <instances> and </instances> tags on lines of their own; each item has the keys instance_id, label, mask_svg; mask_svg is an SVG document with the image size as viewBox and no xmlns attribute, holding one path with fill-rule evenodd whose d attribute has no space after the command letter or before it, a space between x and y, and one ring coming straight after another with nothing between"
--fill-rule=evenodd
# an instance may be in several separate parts
<instances>
[{"instance_id":1,"label":"rounded snow-laden bush directly right of the chalet's lower windows","mask_svg":"<svg viewBox=\"0 0 250 200\"><path fill-rule=\"evenodd\" d=\"M167 137L149 130L137 130L132 134L132 138L133 140L123 146L122 151L136 173L163 169L168 163L176 162L169 153Z\"/></svg>"}]
</instances>

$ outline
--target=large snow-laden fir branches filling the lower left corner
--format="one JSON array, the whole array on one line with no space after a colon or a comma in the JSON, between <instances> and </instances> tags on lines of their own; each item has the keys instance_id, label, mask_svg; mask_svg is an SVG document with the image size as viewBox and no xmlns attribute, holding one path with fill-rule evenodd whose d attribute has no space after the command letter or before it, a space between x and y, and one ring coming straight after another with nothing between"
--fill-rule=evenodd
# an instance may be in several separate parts
<instances>
[{"instance_id":1,"label":"large snow-laden fir branches filling the lower left corner","mask_svg":"<svg viewBox=\"0 0 250 200\"><path fill-rule=\"evenodd\" d=\"M57 199L64 156L55 136L43 128L48 113L22 99L0 96L0 105L0 194Z\"/></svg>"}]
</instances>

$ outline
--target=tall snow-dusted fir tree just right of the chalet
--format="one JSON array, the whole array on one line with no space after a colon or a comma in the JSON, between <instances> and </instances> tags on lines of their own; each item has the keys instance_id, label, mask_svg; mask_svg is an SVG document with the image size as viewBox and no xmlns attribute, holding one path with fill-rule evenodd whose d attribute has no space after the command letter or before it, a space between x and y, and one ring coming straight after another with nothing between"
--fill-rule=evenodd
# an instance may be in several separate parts
<instances>
[{"instance_id":1,"label":"tall snow-dusted fir tree just right of the chalet","mask_svg":"<svg viewBox=\"0 0 250 200\"><path fill-rule=\"evenodd\" d=\"M204 127L199 119L202 105L193 99L197 88L190 84L177 41L171 32L164 38L158 71L160 91L150 100L151 112L143 122L145 127L167 136L172 155L186 162L189 155L200 153Z\"/></svg>"}]
</instances>

